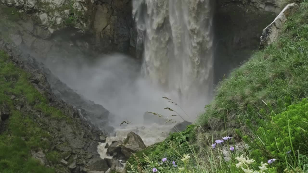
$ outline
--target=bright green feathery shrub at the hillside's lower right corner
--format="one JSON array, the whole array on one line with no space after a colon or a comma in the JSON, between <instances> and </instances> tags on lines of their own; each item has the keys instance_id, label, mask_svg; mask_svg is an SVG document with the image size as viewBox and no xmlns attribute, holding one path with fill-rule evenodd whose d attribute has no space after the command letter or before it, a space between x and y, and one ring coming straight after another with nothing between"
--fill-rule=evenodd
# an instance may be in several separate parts
<instances>
[{"instance_id":1,"label":"bright green feathery shrub at the hillside's lower right corner","mask_svg":"<svg viewBox=\"0 0 308 173\"><path fill-rule=\"evenodd\" d=\"M303 99L280 114L262 117L265 121L259 121L259 127L252 129L253 140L249 136L244 137L251 149L251 158L257 162L278 159L275 162L278 171L283 171L288 165L300 166L299 156L308 153L308 100ZM253 128L250 124L249 127Z\"/></svg>"}]
</instances>

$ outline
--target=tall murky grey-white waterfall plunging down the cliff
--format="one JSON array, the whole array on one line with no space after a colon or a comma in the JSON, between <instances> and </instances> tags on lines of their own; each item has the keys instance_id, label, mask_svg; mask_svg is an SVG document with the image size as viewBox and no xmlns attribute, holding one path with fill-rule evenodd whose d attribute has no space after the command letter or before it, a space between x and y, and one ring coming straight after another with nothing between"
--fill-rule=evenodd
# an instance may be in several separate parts
<instances>
[{"instance_id":1,"label":"tall murky grey-white waterfall plunging down the cliff","mask_svg":"<svg viewBox=\"0 0 308 173\"><path fill-rule=\"evenodd\" d=\"M133 0L133 16L144 31L146 78L186 101L210 97L213 0Z\"/></svg>"}]
</instances>

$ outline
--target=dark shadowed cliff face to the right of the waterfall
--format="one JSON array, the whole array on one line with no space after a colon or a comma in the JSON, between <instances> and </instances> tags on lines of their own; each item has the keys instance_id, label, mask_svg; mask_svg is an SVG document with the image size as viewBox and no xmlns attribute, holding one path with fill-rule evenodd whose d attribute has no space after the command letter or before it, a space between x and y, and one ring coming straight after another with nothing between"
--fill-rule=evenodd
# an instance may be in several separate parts
<instances>
[{"instance_id":1,"label":"dark shadowed cliff face to the right of the waterfall","mask_svg":"<svg viewBox=\"0 0 308 173\"><path fill-rule=\"evenodd\" d=\"M279 14L274 0L218 0L215 27L215 78L247 60L257 50L262 30ZM217 82L217 81L216 81Z\"/></svg>"}]
</instances>

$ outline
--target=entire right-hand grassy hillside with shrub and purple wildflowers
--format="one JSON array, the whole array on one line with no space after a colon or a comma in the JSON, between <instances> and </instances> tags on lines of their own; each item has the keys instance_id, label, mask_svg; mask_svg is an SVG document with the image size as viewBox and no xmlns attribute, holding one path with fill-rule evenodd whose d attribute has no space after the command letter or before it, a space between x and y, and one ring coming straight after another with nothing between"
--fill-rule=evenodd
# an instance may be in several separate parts
<instances>
[{"instance_id":1,"label":"entire right-hand grassy hillside with shrub and purple wildflowers","mask_svg":"<svg viewBox=\"0 0 308 173\"><path fill-rule=\"evenodd\" d=\"M308 2L296 2L278 42L219 84L195 127L137 153L128 172L308 172Z\"/></svg>"}]
</instances>

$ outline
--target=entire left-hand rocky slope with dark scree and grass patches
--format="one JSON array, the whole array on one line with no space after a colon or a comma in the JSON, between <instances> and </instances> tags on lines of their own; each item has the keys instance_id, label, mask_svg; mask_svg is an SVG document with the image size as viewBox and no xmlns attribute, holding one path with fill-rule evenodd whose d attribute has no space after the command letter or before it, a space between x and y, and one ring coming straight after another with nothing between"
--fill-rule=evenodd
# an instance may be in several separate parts
<instances>
[{"instance_id":1,"label":"entire left-hand rocky slope with dark scree and grass patches","mask_svg":"<svg viewBox=\"0 0 308 173\"><path fill-rule=\"evenodd\" d=\"M16 153L25 148L22 151L26 152L23 154L24 166L28 164L26 158L30 155L39 159L42 165L53 168L55 172L101 171L99 167L95 167L97 162L102 162L97 153L97 145L99 138L106 134L85 121L80 109L52 94L46 76L33 68L33 59L28 57L28 61L21 61L21 55L12 54L12 50L15 53L17 51L2 39L0 46L10 54L1 51L2 149L17 145L16 140L22 139L24 142L18 143L24 143L23 147L19 146L12 152ZM3 155L3 152L5 150L0 152L1 158L4 157L8 162L11 157L23 158L12 153ZM11 166L14 164L16 160L12 160L11 164L5 167L1 165L1 168L6 171L26 169Z\"/></svg>"}]
</instances>

